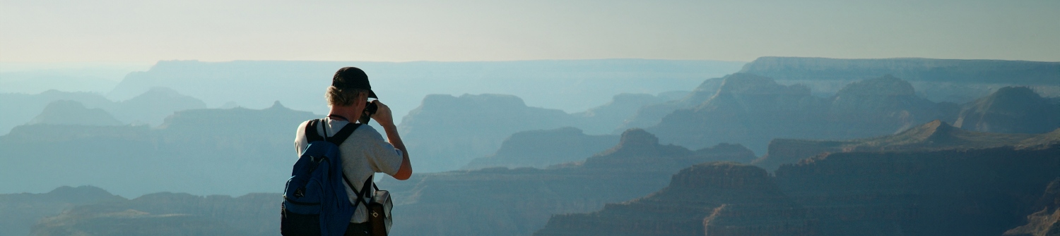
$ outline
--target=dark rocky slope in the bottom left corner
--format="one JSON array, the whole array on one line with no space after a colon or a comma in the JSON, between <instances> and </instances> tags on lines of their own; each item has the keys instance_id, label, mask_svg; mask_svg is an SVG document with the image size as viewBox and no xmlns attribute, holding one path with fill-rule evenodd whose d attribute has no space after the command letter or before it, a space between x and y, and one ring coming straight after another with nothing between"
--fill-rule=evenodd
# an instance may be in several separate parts
<instances>
[{"instance_id":1,"label":"dark rocky slope in the bottom left corner","mask_svg":"<svg viewBox=\"0 0 1060 236\"><path fill-rule=\"evenodd\" d=\"M37 220L58 215L74 205L124 200L94 186L61 186L45 194L0 195L0 234L30 235Z\"/></svg>"}]
</instances>

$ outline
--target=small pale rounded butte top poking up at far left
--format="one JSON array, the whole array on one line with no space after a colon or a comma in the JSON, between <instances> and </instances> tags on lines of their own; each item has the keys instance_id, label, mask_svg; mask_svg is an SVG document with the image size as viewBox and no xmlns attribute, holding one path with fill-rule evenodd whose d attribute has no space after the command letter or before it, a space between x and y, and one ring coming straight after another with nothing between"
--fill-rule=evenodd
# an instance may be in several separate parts
<instances>
[{"instance_id":1,"label":"small pale rounded butte top poking up at far left","mask_svg":"<svg viewBox=\"0 0 1060 236\"><path fill-rule=\"evenodd\" d=\"M78 102L60 99L48 104L45 110L28 124L110 126L123 123L103 109L89 109Z\"/></svg>"}]
</instances>

